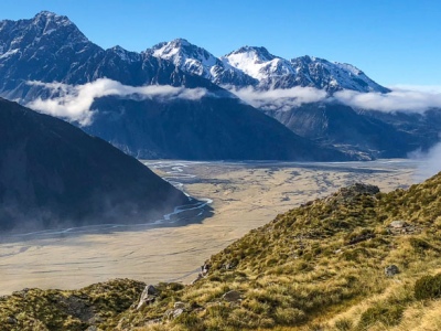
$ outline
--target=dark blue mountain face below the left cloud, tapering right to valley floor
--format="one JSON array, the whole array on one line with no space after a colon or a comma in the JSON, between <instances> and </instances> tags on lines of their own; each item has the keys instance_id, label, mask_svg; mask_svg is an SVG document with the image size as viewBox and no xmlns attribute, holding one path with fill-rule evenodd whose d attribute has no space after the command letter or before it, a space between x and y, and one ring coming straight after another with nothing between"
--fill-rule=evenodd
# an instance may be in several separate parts
<instances>
[{"instance_id":1,"label":"dark blue mountain face below the left cloud, tapering right to valley floor","mask_svg":"<svg viewBox=\"0 0 441 331\"><path fill-rule=\"evenodd\" d=\"M84 129L137 158L190 160L348 160L336 150L301 138L233 98L127 100L100 98ZM116 134L118 132L118 134Z\"/></svg>"}]
</instances>

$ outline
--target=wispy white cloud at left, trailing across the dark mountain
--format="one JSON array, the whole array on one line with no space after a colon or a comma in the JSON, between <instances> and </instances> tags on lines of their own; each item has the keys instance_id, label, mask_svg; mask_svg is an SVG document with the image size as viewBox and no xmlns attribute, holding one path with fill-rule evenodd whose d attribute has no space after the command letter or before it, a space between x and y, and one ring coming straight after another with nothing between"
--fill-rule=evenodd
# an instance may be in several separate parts
<instances>
[{"instance_id":1,"label":"wispy white cloud at left, trailing across the dark mountain","mask_svg":"<svg viewBox=\"0 0 441 331\"><path fill-rule=\"evenodd\" d=\"M62 83L28 82L29 85L42 86L50 92L47 99L36 98L26 104L28 107L67 120L77 121L82 126L92 122L94 110L90 109L96 98L104 96L121 96L137 99L161 98L197 100L207 95L205 88L173 87L170 85L128 86L108 78L100 78L84 85Z\"/></svg>"}]
</instances>

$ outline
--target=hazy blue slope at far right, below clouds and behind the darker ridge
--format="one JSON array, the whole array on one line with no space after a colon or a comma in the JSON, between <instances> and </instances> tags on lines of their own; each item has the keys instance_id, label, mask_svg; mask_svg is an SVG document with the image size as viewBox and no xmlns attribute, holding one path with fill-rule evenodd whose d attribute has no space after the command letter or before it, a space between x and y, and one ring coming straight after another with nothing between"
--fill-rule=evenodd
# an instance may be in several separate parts
<instances>
[{"instance_id":1,"label":"hazy blue slope at far right, below clouds and behind the darker ridge","mask_svg":"<svg viewBox=\"0 0 441 331\"><path fill-rule=\"evenodd\" d=\"M290 110L265 113L301 137L366 159L406 158L409 152L427 149L438 141L437 134L430 135L427 130L418 132L398 126L397 118L381 120L372 113L359 113L338 103L305 104ZM422 127L422 122L413 124L415 129Z\"/></svg>"}]
</instances>

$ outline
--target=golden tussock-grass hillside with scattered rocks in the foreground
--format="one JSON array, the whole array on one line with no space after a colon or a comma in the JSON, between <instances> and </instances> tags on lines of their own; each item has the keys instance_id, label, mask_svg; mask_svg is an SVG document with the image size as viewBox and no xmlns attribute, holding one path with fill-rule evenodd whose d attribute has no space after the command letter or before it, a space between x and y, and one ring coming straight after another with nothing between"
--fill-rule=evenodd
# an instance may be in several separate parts
<instances>
[{"instance_id":1,"label":"golden tussock-grass hillside with scattered rocks in the foreground","mask_svg":"<svg viewBox=\"0 0 441 331\"><path fill-rule=\"evenodd\" d=\"M144 285L128 279L31 289L0 299L0 330L440 330L440 196L441 173L388 194L356 184L278 215L139 309Z\"/></svg>"}]
</instances>

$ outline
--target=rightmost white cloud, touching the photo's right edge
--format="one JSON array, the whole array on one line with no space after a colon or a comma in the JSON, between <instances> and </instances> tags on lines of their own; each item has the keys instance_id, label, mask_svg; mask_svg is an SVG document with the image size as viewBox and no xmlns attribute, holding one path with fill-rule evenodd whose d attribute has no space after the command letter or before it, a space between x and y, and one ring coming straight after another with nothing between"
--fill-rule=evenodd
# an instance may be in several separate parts
<instances>
[{"instance_id":1,"label":"rightmost white cloud, touching the photo's right edge","mask_svg":"<svg viewBox=\"0 0 441 331\"><path fill-rule=\"evenodd\" d=\"M355 108L379 111L424 113L430 108L441 107L441 93L435 87L428 87L426 90L417 89L416 86L406 88L395 87L387 94L345 89L336 92L334 99Z\"/></svg>"}]
</instances>

